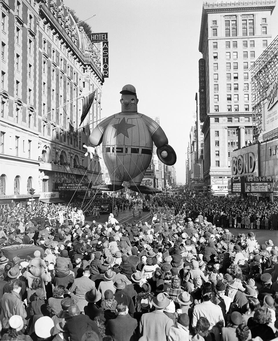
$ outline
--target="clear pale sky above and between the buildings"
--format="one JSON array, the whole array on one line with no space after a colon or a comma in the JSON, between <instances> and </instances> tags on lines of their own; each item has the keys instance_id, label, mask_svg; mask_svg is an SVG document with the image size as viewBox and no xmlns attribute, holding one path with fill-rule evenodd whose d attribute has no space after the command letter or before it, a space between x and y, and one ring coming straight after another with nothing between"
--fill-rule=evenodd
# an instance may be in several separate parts
<instances>
[{"instance_id":1,"label":"clear pale sky above and between the buildings","mask_svg":"<svg viewBox=\"0 0 278 341\"><path fill-rule=\"evenodd\" d=\"M212 2L212 1L210 1ZM220 1L219 1L220 2ZM199 89L201 0L64 0L93 32L108 32L109 78L102 88L102 117L121 110L120 91L136 88L138 112L159 116L177 154L177 182L185 182L195 93ZM278 4L272 36L278 35Z\"/></svg>"}]
</instances>

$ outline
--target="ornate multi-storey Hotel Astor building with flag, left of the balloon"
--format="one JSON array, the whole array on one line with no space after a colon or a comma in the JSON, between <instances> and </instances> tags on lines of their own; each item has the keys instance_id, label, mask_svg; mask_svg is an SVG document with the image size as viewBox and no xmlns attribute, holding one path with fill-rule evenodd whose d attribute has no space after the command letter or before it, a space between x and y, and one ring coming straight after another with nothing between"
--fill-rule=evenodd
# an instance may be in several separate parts
<instances>
[{"instance_id":1,"label":"ornate multi-storey Hotel Astor building with flag, left of the balloon","mask_svg":"<svg viewBox=\"0 0 278 341\"><path fill-rule=\"evenodd\" d=\"M31 187L57 201L70 193L57 184L86 189L101 178L100 148L93 160L83 149L101 118L99 56L62 0L1 0L0 14L0 205L25 205ZM93 90L79 128L82 97Z\"/></svg>"}]
</instances>

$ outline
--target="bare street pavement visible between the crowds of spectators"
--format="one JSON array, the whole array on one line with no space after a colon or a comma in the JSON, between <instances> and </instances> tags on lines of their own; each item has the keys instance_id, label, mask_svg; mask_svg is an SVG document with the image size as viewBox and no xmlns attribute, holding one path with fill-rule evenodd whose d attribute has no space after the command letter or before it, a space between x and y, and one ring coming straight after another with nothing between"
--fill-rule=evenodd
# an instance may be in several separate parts
<instances>
[{"instance_id":1,"label":"bare street pavement visible between the crowds of spectators","mask_svg":"<svg viewBox=\"0 0 278 341\"><path fill-rule=\"evenodd\" d=\"M109 214L101 214L100 219L97 219L98 224L104 224L108 220ZM126 221L132 223L134 220L137 222L141 220L142 222L147 222L148 224L151 223L150 212L142 212L142 218L139 218L137 207L135 211L135 217L133 217L132 211L126 212L119 212L118 217L115 217L119 223L124 224ZM85 222L91 224L92 221L95 220L92 216L88 216L85 219ZM257 230L257 229L247 229L247 228L229 228L229 231L233 233L235 236L238 233L245 233L247 234L252 231L256 234L256 239L258 240L259 244L265 244L266 241L271 239L274 245L278 246L278 231L271 231L271 230Z\"/></svg>"}]
</instances>

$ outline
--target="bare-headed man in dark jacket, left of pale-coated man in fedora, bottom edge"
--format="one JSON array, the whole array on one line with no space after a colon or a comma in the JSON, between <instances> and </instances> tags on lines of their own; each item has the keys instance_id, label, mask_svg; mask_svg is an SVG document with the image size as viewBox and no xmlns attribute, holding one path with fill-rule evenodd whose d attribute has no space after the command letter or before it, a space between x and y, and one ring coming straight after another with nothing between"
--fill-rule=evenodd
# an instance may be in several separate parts
<instances>
[{"instance_id":1,"label":"bare-headed man in dark jacket, left of pale-coated man in fedora, bottom edge","mask_svg":"<svg viewBox=\"0 0 278 341\"><path fill-rule=\"evenodd\" d=\"M129 309L126 303L120 302L116 306L117 317L108 320L106 331L115 341L130 341L137 328L137 321L129 315ZM134 335L135 336L135 335Z\"/></svg>"}]
</instances>

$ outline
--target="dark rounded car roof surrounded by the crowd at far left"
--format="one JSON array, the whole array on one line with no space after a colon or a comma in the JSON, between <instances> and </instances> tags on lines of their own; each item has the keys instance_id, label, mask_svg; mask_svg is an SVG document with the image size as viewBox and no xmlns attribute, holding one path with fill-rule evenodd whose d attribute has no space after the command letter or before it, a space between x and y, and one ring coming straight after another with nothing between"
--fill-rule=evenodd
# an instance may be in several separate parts
<instances>
[{"instance_id":1,"label":"dark rounded car roof surrounded by the crowd at far left","mask_svg":"<svg viewBox=\"0 0 278 341\"><path fill-rule=\"evenodd\" d=\"M6 256L10 261L16 256L23 260L28 256L34 258L34 252L36 250L40 251L41 257L43 258L44 249L42 247L26 244L5 246L0 250L0 256Z\"/></svg>"}]
</instances>

